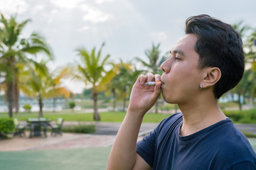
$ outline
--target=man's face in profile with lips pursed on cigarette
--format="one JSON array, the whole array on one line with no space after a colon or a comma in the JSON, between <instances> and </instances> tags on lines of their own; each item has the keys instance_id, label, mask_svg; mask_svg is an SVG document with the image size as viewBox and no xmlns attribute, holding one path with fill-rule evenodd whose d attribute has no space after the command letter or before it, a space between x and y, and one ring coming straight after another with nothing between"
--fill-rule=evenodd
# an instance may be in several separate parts
<instances>
[{"instance_id":1,"label":"man's face in profile with lips pursed on cigarette","mask_svg":"<svg viewBox=\"0 0 256 170\"><path fill-rule=\"evenodd\" d=\"M167 103L186 103L200 91L202 73L198 68L199 55L194 50L197 40L196 35L184 35L171 49L169 59L161 64L161 89Z\"/></svg>"}]
</instances>

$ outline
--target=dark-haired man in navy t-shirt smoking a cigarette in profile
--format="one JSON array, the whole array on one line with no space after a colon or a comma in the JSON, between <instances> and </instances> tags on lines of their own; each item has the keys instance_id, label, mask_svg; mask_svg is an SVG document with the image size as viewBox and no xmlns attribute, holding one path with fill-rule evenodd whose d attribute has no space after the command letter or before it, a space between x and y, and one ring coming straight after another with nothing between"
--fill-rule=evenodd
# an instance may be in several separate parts
<instances>
[{"instance_id":1,"label":"dark-haired man in navy t-shirt smoking a cigarette in profile","mask_svg":"<svg viewBox=\"0 0 256 170\"><path fill-rule=\"evenodd\" d=\"M186 34L171 49L162 76L140 75L107 169L256 169L250 143L218 107L244 71L242 40L228 24L207 15L186 20ZM161 81L145 86L148 81ZM164 119L137 143L142 119L159 94L181 113Z\"/></svg>"}]
</instances>

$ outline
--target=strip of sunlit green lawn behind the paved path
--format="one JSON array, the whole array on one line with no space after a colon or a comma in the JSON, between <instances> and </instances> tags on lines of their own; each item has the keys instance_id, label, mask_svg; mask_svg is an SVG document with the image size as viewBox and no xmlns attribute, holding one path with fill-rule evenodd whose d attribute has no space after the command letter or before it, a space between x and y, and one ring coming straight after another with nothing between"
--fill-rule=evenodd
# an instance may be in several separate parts
<instances>
[{"instance_id":1,"label":"strip of sunlit green lawn behind the paved path","mask_svg":"<svg viewBox=\"0 0 256 170\"><path fill-rule=\"evenodd\" d=\"M250 109L246 111L223 111L234 123L256 123L256 109ZM100 113L102 122L122 122L125 116L125 112L105 112ZM146 113L143 122L144 123L159 123L170 114L161 113ZM0 118L8 118L8 113L0 113ZM38 113L18 113L14 114L14 118L18 120L28 120L28 118L37 118ZM56 120L57 118L64 118L65 121L94 121L93 113L83 113L82 111L60 111L60 112L44 112L44 118L50 118Z\"/></svg>"}]
</instances>

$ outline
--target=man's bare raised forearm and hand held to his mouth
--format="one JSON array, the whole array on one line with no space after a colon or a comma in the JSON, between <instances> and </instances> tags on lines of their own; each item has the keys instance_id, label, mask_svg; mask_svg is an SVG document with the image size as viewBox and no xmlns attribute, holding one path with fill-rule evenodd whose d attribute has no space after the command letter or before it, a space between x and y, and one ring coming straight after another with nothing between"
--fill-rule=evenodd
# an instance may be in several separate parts
<instances>
[{"instance_id":1,"label":"man's bare raised forearm and hand held to his mouth","mask_svg":"<svg viewBox=\"0 0 256 170\"><path fill-rule=\"evenodd\" d=\"M146 81L160 81L159 75L140 75L132 88L127 115L117 132L107 169L151 169L136 152L137 137L142 119L149 109L154 106L161 93L161 83L155 86L144 86Z\"/></svg>"}]
</instances>

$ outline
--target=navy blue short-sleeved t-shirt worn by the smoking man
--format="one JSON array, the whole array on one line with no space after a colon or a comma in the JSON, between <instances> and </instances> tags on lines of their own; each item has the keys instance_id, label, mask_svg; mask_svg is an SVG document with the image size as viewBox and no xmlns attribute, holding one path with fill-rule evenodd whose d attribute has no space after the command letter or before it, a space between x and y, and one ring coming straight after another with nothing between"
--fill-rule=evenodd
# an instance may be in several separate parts
<instances>
[{"instance_id":1,"label":"navy blue short-sleeved t-shirt worn by the smoking man","mask_svg":"<svg viewBox=\"0 0 256 170\"><path fill-rule=\"evenodd\" d=\"M255 152L230 118L185 137L179 135L182 123L181 113L171 115L137 143L152 169L256 169Z\"/></svg>"}]
</instances>

